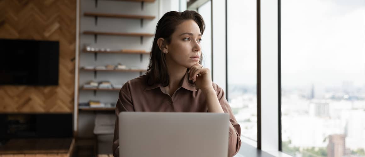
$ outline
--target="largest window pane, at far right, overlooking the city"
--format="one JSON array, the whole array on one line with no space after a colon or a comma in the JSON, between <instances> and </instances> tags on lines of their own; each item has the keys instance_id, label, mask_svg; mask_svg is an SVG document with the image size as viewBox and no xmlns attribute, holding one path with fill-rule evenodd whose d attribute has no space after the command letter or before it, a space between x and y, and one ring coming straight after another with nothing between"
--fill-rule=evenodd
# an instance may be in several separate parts
<instances>
[{"instance_id":1,"label":"largest window pane, at far right, overlooking the city","mask_svg":"<svg viewBox=\"0 0 365 157\"><path fill-rule=\"evenodd\" d=\"M365 1L281 0L283 152L365 156Z\"/></svg>"}]
</instances>

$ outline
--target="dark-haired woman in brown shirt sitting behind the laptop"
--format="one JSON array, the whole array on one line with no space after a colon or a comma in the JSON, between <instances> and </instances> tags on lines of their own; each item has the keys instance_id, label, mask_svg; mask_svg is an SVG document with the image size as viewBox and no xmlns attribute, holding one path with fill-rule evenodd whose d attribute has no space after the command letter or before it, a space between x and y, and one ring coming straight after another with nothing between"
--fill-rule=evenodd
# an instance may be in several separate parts
<instances>
[{"instance_id":1,"label":"dark-haired woman in brown shirt sitting behind the laptop","mask_svg":"<svg viewBox=\"0 0 365 157\"><path fill-rule=\"evenodd\" d=\"M241 146L241 128L222 88L201 65L205 24L195 11L166 13L158 21L146 75L123 85L116 105L113 153L119 156L118 114L129 112L215 112L230 115L228 156Z\"/></svg>"}]
</instances>

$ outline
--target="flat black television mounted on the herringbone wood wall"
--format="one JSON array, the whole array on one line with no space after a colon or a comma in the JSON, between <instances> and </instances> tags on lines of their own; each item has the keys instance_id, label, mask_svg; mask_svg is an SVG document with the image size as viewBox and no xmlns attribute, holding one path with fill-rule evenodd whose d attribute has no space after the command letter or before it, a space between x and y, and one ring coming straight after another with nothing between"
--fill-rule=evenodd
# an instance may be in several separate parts
<instances>
[{"instance_id":1,"label":"flat black television mounted on the herringbone wood wall","mask_svg":"<svg viewBox=\"0 0 365 157\"><path fill-rule=\"evenodd\" d=\"M58 85L59 42L0 39L0 85Z\"/></svg>"}]
</instances>

